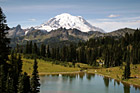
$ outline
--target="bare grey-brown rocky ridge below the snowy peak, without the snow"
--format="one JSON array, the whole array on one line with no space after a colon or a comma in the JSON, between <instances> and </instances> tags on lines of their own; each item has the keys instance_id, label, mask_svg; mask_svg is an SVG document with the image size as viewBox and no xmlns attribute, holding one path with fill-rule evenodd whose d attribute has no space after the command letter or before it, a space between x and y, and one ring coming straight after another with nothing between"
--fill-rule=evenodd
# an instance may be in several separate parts
<instances>
[{"instance_id":1,"label":"bare grey-brown rocky ridge below the snowy peak, without the snow","mask_svg":"<svg viewBox=\"0 0 140 93\"><path fill-rule=\"evenodd\" d=\"M79 42L79 41L87 41L90 38L97 37L106 37L111 36L114 38L120 38L125 36L126 33L133 34L135 29L123 28L110 33L101 33L98 31L89 31L82 32L78 29L65 29L59 28L57 30L52 30L50 32L44 30L38 30L34 28L24 29L22 30L26 34L22 36L18 36L15 38L11 38L11 46L15 46L17 43L25 44L27 41L36 42L38 44L51 44L56 45L60 42L68 43L68 42ZM63 45L63 43L61 45Z\"/></svg>"}]
</instances>

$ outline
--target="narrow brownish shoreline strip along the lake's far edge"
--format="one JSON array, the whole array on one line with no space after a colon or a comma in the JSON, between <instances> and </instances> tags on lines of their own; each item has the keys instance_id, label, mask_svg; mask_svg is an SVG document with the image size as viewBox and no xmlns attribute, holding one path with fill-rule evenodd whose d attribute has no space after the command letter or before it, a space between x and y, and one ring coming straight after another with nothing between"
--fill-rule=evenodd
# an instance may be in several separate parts
<instances>
[{"instance_id":1,"label":"narrow brownish shoreline strip along the lake's far edge","mask_svg":"<svg viewBox=\"0 0 140 93\"><path fill-rule=\"evenodd\" d=\"M78 74L78 73L91 73L91 74L97 74L97 75L101 75L103 77L107 77L107 78L111 78L111 79L114 79L116 81L119 81L125 85L130 85L130 86L134 86L134 87L138 87L140 88L140 85L139 84L133 84L133 83L130 83L130 82L127 82L127 81L124 81L124 80L119 80L117 78L113 78L109 75L104 75L104 74L101 74L101 73L98 73L98 72L91 72L91 71L73 71L73 72L41 72L39 73L39 76L44 76L44 75L58 75L58 74Z\"/></svg>"}]
</instances>

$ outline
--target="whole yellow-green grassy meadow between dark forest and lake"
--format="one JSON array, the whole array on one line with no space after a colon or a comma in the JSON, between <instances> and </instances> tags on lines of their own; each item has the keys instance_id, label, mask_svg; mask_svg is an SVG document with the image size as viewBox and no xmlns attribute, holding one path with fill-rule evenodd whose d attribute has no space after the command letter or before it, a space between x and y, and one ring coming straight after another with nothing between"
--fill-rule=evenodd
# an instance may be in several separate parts
<instances>
[{"instance_id":1,"label":"whole yellow-green grassy meadow between dark forest and lake","mask_svg":"<svg viewBox=\"0 0 140 93\"><path fill-rule=\"evenodd\" d=\"M33 59L25 59L22 58L23 61L23 72L27 72L29 75L32 74L33 71ZM130 85L135 85L140 87L140 64L132 65L131 64L131 77L130 79L123 80L123 72L124 66L119 67L91 67L87 64L76 63L75 67L72 66L72 63L69 62L66 65L62 64L53 64L50 61L44 61L42 59L37 59L38 62L38 71L39 75L45 74L65 74L65 73L79 73L80 71L85 71L88 73L96 73L105 77L110 77L118 81L122 81L123 83L127 83Z\"/></svg>"}]
</instances>

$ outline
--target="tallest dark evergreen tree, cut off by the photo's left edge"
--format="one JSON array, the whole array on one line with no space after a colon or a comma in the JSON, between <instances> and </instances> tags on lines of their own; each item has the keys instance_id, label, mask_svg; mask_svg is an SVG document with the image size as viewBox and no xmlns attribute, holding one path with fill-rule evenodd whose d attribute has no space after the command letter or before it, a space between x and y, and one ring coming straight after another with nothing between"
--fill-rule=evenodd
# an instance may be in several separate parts
<instances>
[{"instance_id":1,"label":"tallest dark evergreen tree, cut off by the photo's left edge","mask_svg":"<svg viewBox=\"0 0 140 93\"><path fill-rule=\"evenodd\" d=\"M8 46L10 39L6 37L9 27L6 24L6 16L4 15L2 8L0 7L0 93L5 93L6 77L7 77L7 60L9 55Z\"/></svg>"}]
</instances>

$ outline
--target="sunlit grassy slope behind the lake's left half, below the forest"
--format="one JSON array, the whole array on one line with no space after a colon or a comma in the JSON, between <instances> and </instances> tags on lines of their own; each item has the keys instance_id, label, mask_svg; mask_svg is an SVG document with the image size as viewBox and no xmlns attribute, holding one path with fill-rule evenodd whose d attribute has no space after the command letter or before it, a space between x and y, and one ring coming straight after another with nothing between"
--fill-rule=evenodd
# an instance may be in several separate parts
<instances>
[{"instance_id":1,"label":"sunlit grassy slope behind the lake's left half, below the forest","mask_svg":"<svg viewBox=\"0 0 140 93\"><path fill-rule=\"evenodd\" d=\"M33 63L34 60L32 59L25 59L22 58L23 61L23 72L27 72L28 74L31 74L33 71ZM86 64L77 63L75 67L72 66L72 63L67 64L67 66L61 66L52 64L52 62L44 61L41 59L37 59L38 62L38 71L39 74L48 74L48 73L57 73L57 72L77 72L80 71L80 67L89 67Z\"/></svg>"}]
</instances>

